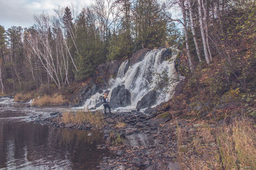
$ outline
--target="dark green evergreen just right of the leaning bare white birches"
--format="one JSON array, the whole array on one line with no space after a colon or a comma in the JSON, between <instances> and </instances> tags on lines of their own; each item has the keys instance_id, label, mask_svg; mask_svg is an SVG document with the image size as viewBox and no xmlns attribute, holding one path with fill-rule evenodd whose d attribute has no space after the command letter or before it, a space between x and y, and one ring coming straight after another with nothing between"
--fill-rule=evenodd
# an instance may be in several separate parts
<instances>
[{"instance_id":1,"label":"dark green evergreen just right of the leaning bare white birches","mask_svg":"<svg viewBox=\"0 0 256 170\"><path fill-rule=\"evenodd\" d=\"M84 9L77 20L76 80L82 81L93 75L95 68L106 60L106 48L95 26L95 15L90 9Z\"/></svg>"}]
</instances>

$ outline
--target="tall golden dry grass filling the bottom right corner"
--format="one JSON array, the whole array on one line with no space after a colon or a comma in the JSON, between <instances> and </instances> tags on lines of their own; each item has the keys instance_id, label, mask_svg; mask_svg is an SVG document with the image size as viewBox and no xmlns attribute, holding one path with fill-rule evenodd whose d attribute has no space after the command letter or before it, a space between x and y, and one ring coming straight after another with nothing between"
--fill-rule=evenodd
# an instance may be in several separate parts
<instances>
[{"instance_id":1,"label":"tall golden dry grass filling the bottom right corner","mask_svg":"<svg viewBox=\"0 0 256 170\"><path fill-rule=\"evenodd\" d=\"M218 137L225 169L256 169L256 131L246 119L220 128Z\"/></svg>"}]
</instances>

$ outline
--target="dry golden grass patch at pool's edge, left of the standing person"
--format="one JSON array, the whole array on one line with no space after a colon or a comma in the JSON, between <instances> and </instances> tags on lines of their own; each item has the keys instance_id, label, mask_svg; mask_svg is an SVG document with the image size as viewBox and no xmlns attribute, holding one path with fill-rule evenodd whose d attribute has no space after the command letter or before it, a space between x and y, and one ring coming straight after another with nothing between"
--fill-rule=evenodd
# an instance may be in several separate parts
<instances>
[{"instance_id":1,"label":"dry golden grass patch at pool's edge, left of the standing person","mask_svg":"<svg viewBox=\"0 0 256 170\"><path fill-rule=\"evenodd\" d=\"M83 122L89 122L94 127L101 129L104 127L104 116L100 112L92 113L92 111L77 110L76 113L72 111L64 111L61 117L61 122L67 124L81 125Z\"/></svg>"}]
</instances>

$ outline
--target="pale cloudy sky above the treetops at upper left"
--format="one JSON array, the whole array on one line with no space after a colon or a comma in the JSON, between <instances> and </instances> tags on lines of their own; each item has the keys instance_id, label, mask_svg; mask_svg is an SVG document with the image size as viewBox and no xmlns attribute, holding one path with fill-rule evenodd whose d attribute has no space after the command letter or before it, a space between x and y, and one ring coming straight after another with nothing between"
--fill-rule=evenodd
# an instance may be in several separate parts
<instances>
[{"instance_id":1,"label":"pale cloudy sky above the treetops at upper left","mask_svg":"<svg viewBox=\"0 0 256 170\"><path fill-rule=\"evenodd\" d=\"M81 10L93 0L0 0L0 25L4 29L14 26L30 27L33 16L41 13L54 15L59 7L74 6Z\"/></svg>"}]
</instances>

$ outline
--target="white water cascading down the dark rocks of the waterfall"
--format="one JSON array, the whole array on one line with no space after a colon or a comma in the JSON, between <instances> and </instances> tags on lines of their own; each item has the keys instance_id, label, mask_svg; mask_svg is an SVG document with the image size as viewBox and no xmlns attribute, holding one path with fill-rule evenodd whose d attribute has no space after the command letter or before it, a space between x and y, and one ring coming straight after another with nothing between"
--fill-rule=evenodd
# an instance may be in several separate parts
<instances>
[{"instance_id":1,"label":"white water cascading down the dark rocks of the waterfall","mask_svg":"<svg viewBox=\"0 0 256 170\"><path fill-rule=\"evenodd\" d=\"M109 80L109 97L111 92L118 85L125 85L125 89L128 89L131 92L131 106L125 108L118 108L117 110L131 110L136 108L136 104L141 100L151 90L157 90L157 81L159 81L159 75L166 74L169 80L172 80L177 76L175 74L175 67L173 61L161 60L161 55L163 49L156 49L148 52L144 59L132 66L127 68L128 61L125 60L122 62L118 69L116 78ZM173 51L173 50L172 50ZM179 79L179 77L175 78ZM157 91L157 104L160 104L164 101L168 101L172 97L172 90L174 89L176 83L168 85L168 87L163 89L158 89ZM105 91L105 90L103 90ZM103 94L95 94L90 99L87 99L84 105L81 108L95 109L97 103L100 103L100 99ZM102 109L100 106L97 109Z\"/></svg>"}]
</instances>

